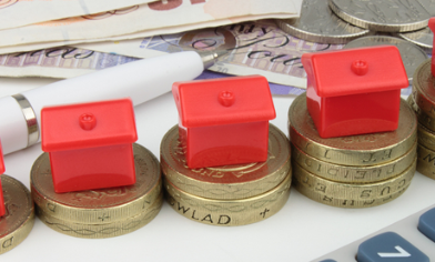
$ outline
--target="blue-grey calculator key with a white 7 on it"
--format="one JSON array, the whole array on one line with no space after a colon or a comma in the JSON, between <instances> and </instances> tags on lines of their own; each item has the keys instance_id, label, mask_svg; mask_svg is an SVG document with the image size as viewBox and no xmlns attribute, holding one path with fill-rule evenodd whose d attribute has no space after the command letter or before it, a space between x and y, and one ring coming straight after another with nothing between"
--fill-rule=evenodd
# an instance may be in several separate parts
<instances>
[{"instance_id":1,"label":"blue-grey calculator key with a white 7 on it","mask_svg":"<svg viewBox=\"0 0 435 262\"><path fill-rule=\"evenodd\" d=\"M360 244L358 262L429 262L429 258L401 235L386 232Z\"/></svg>"}]
</instances>

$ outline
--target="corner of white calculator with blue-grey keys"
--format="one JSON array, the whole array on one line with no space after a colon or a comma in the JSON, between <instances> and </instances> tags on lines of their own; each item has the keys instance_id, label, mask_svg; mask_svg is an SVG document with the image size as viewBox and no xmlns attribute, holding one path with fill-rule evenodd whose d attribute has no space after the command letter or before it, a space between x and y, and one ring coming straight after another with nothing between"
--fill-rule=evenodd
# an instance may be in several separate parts
<instances>
[{"instance_id":1,"label":"corner of white calculator with blue-grey keys","mask_svg":"<svg viewBox=\"0 0 435 262\"><path fill-rule=\"evenodd\" d=\"M435 204L313 262L428 262L435 259Z\"/></svg>"}]
</instances>

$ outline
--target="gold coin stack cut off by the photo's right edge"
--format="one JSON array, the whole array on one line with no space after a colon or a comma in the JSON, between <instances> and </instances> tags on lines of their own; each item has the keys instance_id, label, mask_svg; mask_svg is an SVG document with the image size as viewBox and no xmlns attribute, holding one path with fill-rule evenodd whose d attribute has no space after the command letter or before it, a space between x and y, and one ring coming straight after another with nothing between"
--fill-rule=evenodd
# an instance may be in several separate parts
<instances>
[{"instance_id":1,"label":"gold coin stack cut off by the photo's right edge","mask_svg":"<svg viewBox=\"0 0 435 262\"><path fill-rule=\"evenodd\" d=\"M431 59L414 73L413 93L407 102L418 119L417 171L435 179L435 79L431 73Z\"/></svg>"}]
</instances>

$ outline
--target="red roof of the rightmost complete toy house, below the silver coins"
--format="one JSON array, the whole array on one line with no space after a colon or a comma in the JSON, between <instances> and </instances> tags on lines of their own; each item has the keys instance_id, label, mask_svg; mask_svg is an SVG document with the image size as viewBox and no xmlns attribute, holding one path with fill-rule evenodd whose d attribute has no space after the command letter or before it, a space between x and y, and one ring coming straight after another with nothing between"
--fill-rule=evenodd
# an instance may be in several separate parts
<instances>
[{"instance_id":1,"label":"red roof of the rightmost complete toy house, below the silver coins","mask_svg":"<svg viewBox=\"0 0 435 262\"><path fill-rule=\"evenodd\" d=\"M317 95L324 98L409 84L401 53L393 46L304 53L302 64Z\"/></svg>"}]
</instances>

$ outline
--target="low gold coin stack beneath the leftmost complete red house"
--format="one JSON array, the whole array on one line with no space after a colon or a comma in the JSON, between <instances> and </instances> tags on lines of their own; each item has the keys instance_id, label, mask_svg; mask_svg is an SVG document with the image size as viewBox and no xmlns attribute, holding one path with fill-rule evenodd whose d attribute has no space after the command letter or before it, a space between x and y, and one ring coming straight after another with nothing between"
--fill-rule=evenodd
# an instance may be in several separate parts
<instances>
[{"instance_id":1,"label":"low gold coin stack beneath the leftmost complete red house","mask_svg":"<svg viewBox=\"0 0 435 262\"><path fill-rule=\"evenodd\" d=\"M48 153L33 163L31 194L39 219L78 238L102 239L133 232L155 218L163 203L158 159L134 143L136 182L110 189L55 193Z\"/></svg>"}]
</instances>

